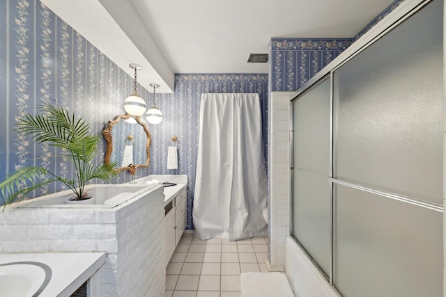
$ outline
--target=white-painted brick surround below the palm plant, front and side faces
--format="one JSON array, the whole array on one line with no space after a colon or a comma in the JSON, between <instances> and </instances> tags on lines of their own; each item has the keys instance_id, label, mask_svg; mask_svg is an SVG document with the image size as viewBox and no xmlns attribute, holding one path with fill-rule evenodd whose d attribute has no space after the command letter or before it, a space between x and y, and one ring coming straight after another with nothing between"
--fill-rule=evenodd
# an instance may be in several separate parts
<instances>
[{"instance_id":1,"label":"white-painted brick surround below the palm plant, front and side faces","mask_svg":"<svg viewBox=\"0 0 446 297\"><path fill-rule=\"evenodd\" d=\"M163 222L162 186L112 208L15 205L0 213L0 252L107 252L99 296L158 297L165 287Z\"/></svg>"}]
</instances>

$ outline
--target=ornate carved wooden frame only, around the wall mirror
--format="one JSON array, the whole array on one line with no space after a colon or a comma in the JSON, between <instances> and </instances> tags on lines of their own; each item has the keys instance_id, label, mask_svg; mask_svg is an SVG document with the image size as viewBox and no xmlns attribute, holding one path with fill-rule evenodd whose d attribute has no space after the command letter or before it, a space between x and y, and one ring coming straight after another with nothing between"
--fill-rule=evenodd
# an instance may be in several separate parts
<instances>
[{"instance_id":1,"label":"ornate carved wooden frame only, around the wall mirror","mask_svg":"<svg viewBox=\"0 0 446 297\"><path fill-rule=\"evenodd\" d=\"M116 115L113 120L109 120L107 122L107 125L105 126L105 129L102 131L102 135L104 136L105 140L107 141L107 152L105 152L105 158L104 163L109 164L110 163L110 156L112 156L113 152L113 139L112 139L112 129L113 126L116 125L120 120L127 120L128 118L132 118L132 115L129 115L128 113L125 113L124 115ZM151 132L148 131L146 124L144 122L141 122L141 119L139 116L133 117L137 124L140 125L144 132L146 132L147 140L146 140L146 163L144 164L130 164L130 166L126 167L120 167L116 168L115 172L121 172L122 170L128 170L131 175L134 175L134 173L137 171L138 168L145 168L148 167L148 165L151 163L151 143L152 143L152 136Z\"/></svg>"}]
</instances>

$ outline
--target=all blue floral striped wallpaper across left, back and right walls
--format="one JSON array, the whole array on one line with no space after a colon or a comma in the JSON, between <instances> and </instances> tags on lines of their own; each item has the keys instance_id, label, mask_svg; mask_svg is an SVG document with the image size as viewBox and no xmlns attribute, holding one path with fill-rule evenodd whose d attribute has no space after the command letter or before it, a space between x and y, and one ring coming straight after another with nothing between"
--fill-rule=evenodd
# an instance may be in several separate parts
<instances>
[{"instance_id":1,"label":"all blue floral striped wallpaper across left, back and right walls","mask_svg":"<svg viewBox=\"0 0 446 297\"><path fill-rule=\"evenodd\" d=\"M403 0L397 0L357 36L341 40L273 38L270 43L268 74L176 74L173 94L157 94L157 106L164 113L162 124L148 125L153 137L151 166L137 171L148 174L186 174L187 229L192 225L192 201L197 161L199 105L202 93L259 93L263 119L268 118L268 77L270 90L295 90L332 61L351 42L368 31L383 15ZM137 61L132 61L137 62ZM144 70L142 70L144 71ZM49 103L63 106L91 122L100 133L107 120L123 113L123 99L132 90L132 77L117 67L40 1L0 0L0 180L24 166L45 166L69 177L70 163L52 154L52 147L34 145L13 131L17 117L34 113ZM152 102L148 90L139 93ZM267 145L263 121L263 143ZM178 170L167 170L167 145L178 136ZM121 135L125 138L127 132ZM135 143L137 152L144 143ZM97 161L105 154L105 142L98 147ZM115 152L116 153L116 152ZM267 154L267 152L266 152ZM137 162L141 155L137 156ZM121 172L112 183L127 182ZM50 185L36 195L63 189Z\"/></svg>"}]
</instances>

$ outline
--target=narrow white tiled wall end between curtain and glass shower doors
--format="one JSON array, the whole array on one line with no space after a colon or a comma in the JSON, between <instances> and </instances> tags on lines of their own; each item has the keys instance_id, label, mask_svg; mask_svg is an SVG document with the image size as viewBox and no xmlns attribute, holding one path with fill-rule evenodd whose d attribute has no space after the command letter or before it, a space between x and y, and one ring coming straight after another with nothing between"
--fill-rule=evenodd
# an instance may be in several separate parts
<instances>
[{"instance_id":1,"label":"narrow white tiled wall end between curtain and glass shower doors","mask_svg":"<svg viewBox=\"0 0 446 297\"><path fill-rule=\"evenodd\" d=\"M290 96L272 92L269 106L270 268L285 268L285 237L290 224Z\"/></svg>"}]
</instances>

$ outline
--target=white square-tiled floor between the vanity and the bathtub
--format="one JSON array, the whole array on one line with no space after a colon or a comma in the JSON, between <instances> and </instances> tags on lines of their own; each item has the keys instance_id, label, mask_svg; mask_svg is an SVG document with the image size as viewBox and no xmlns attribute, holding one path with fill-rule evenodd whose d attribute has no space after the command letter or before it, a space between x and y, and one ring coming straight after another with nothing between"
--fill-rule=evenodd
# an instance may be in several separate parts
<instances>
[{"instance_id":1,"label":"white square-tiled floor between the vanity and the bathtub","mask_svg":"<svg viewBox=\"0 0 446 297\"><path fill-rule=\"evenodd\" d=\"M241 297L240 273L268 272L268 237L240 241L183 234L166 269L164 297Z\"/></svg>"}]
</instances>

